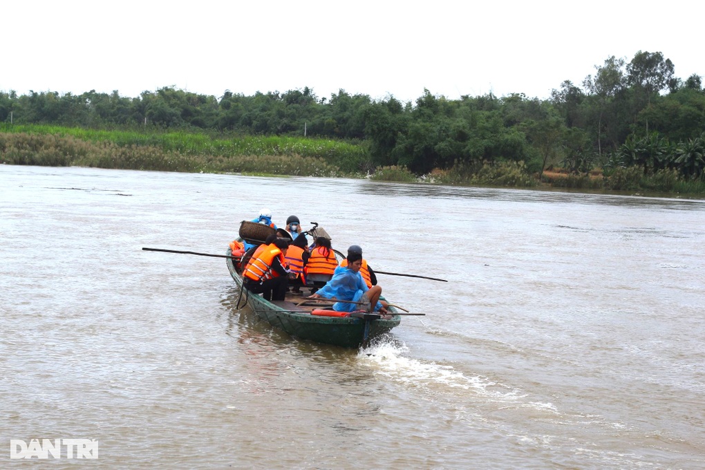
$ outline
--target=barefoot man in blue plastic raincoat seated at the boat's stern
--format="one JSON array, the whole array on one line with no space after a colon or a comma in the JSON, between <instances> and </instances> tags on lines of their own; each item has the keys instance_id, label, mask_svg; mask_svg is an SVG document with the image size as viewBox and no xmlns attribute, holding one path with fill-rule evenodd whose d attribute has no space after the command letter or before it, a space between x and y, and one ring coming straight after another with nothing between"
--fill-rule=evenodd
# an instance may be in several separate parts
<instances>
[{"instance_id":1,"label":"barefoot man in blue plastic raincoat seated at the boat's stern","mask_svg":"<svg viewBox=\"0 0 705 470\"><path fill-rule=\"evenodd\" d=\"M362 254L351 253L348 256L348 266L343 268L338 266L333 273L333 278L317 292L309 296L309 299L337 299L343 302L333 304L336 311L379 311L381 314L388 314L388 304L384 300L380 301L382 287L374 285L372 289L367 287L360 274L362 268Z\"/></svg>"}]
</instances>

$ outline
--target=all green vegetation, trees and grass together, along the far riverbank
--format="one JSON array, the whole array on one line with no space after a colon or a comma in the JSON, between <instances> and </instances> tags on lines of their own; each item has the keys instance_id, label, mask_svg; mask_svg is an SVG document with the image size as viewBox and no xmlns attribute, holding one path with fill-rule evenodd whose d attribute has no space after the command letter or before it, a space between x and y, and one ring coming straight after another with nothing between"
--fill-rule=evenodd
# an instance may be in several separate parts
<instances>
[{"instance_id":1,"label":"all green vegetation, trees and grass together, along the far riverbank","mask_svg":"<svg viewBox=\"0 0 705 470\"><path fill-rule=\"evenodd\" d=\"M377 172L384 178L397 178L387 168L398 167L458 184L504 185L513 178L525 184L509 167L507 174L496 173L506 162L528 162L520 173L534 178L547 166L584 175L600 166L605 184L615 176L619 187L631 185L618 171L622 166L642 168L639 184L646 186L656 175L654 185L674 188L704 177L700 75L680 80L663 54L639 51L628 64L609 57L582 85L566 80L545 101L522 93L448 99L424 89L406 103L343 89L319 98L308 87L252 96L226 90L221 97L174 87L134 98L117 91L0 91L0 132L66 137L30 145L33 150L13 142L2 158L269 174L359 176L385 168ZM67 151L68 137L94 144L96 153L78 155L78 144ZM275 168L267 171L267 165ZM677 171L679 180L673 183L662 170ZM595 187L601 181L575 174L550 184Z\"/></svg>"}]
</instances>

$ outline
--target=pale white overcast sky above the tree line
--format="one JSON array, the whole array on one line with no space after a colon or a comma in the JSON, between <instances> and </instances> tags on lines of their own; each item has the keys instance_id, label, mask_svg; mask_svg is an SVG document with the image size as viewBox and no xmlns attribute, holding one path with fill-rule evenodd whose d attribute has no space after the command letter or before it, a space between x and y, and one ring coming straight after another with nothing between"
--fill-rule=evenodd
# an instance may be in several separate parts
<instances>
[{"instance_id":1,"label":"pale white overcast sky above the tree line","mask_svg":"<svg viewBox=\"0 0 705 470\"><path fill-rule=\"evenodd\" d=\"M609 56L705 75L699 1L7 1L0 91L548 98Z\"/></svg>"}]
</instances>

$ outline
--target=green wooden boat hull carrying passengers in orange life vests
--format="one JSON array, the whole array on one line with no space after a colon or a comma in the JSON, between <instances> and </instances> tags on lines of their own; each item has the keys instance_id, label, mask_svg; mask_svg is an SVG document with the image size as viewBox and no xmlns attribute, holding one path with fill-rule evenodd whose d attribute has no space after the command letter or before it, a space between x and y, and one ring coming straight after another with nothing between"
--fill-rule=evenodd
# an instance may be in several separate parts
<instances>
[{"instance_id":1,"label":"green wooden boat hull carrying passengers in orange life vests","mask_svg":"<svg viewBox=\"0 0 705 470\"><path fill-rule=\"evenodd\" d=\"M309 233L314 236L317 236L317 233L324 233L324 230L321 228L316 230L317 228L316 226L314 229L309 230ZM240 226L240 235L241 237L238 240L242 241L243 225ZM255 235L255 237L250 238L245 237L244 239L248 242L261 242L262 240L258 240L263 238L261 235ZM231 254L229 247L227 254ZM341 257L342 255L336 252L336 256ZM341 259L338 259L338 261L341 261ZM246 303L259 319L296 338L328 345L356 348L367 345L375 338L388 333L392 328L398 326L401 321L401 317L395 314L398 312L393 306L388 308L392 315L391 317L387 316L387 318L383 318L383 316L376 313L369 314L364 312L353 312L350 316L326 316L326 313L334 314L331 311L334 301L321 303L312 299L308 300L305 298L309 295L306 287L301 288L302 294L297 295L293 292L287 292L284 300L266 301L262 295L252 293L243 287L239 263L232 258L226 259L226 262L228 271L230 271L235 284L240 289L238 308Z\"/></svg>"}]
</instances>

